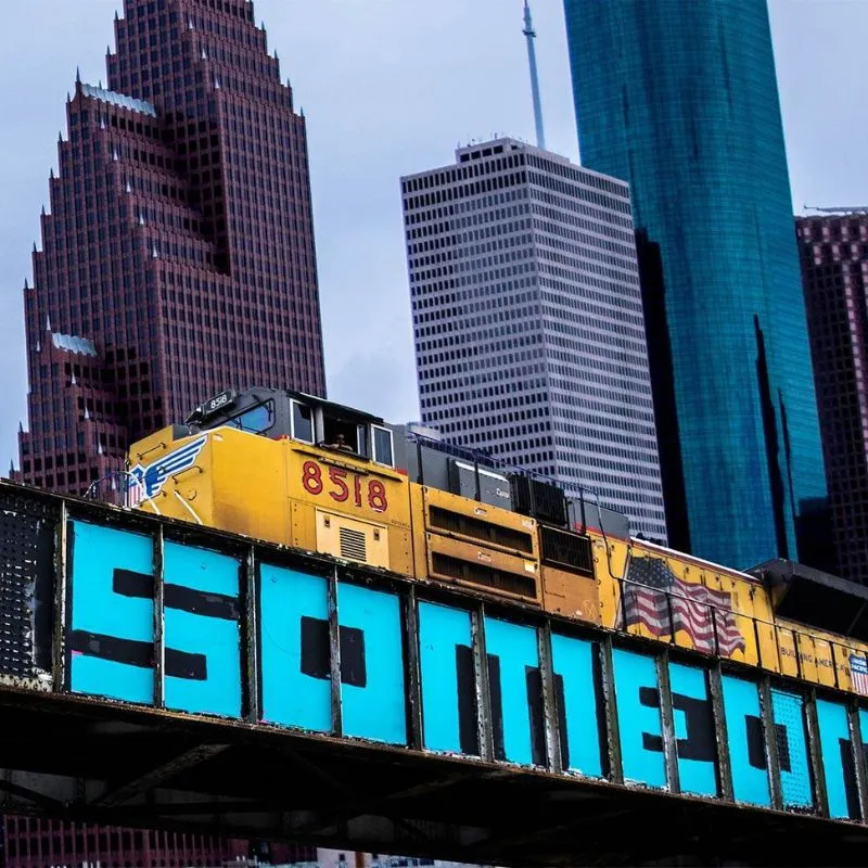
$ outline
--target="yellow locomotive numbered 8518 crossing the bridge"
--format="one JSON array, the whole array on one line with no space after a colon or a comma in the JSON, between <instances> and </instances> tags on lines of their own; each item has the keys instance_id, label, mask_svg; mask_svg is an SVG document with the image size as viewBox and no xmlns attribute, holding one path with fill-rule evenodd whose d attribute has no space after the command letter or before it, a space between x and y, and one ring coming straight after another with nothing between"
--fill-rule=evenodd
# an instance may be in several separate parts
<instances>
[{"instance_id":1,"label":"yellow locomotive numbered 8518 crossing the bridge","mask_svg":"<svg viewBox=\"0 0 868 868\"><path fill-rule=\"evenodd\" d=\"M868 692L868 590L749 574L422 430L301 393L227 391L133 444L138 508Z\"/></svg>"}]
</instances>

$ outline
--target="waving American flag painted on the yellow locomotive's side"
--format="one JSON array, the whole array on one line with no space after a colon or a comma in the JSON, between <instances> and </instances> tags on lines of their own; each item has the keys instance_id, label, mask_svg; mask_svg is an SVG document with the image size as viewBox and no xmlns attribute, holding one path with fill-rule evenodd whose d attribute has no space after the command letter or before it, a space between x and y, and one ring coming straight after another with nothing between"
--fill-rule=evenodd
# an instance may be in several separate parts
<instances>
[{"instance_id":1,"label":"waving American flag painted on the yellow locomotive's side","mask_svg":"<svg viewBox=\"0 0 868 868\"><path fill-rule=\"evenodd\" d=\"M727 591L684 582L663 558L631 558L625 579L618 616L624 627L643 624L653 636L674 636L685 630L695 649L710 654L716 651L730 656L735 651L744 651L744 637Z\"/></svg>"}]
</instances>

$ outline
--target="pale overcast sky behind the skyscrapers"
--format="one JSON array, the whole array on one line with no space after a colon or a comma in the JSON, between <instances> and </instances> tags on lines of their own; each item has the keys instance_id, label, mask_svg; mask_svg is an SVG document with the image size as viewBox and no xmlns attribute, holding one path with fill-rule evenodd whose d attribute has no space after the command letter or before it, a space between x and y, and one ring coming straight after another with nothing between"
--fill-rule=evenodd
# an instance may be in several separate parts
<instances>
[{"instance_id":1,"label":"pale overcast sky behind the skyscrapers","mask_svg":"<svg viewBox=\"0 0 868 868\"><path fill-rule=\"evenodd\" d=\"M601 0L603 1L603 0ZM604 0L610 2L612 0ZM649 0L650 1L650 0ZM684 0L692 2L693 0ZM22 286L76 66L105 81L120 0L5 0L0 31L0 470L25 417ZM866 0L771 0L796 210L868 203ZM562 0L534 0L548 146L578 158ZM256 0L307 116L329 396L418 418L401 175L532 139L521 0ZM41 242L40 242L41 246ZM203 396L204 398L205 396Z\"/></svg>"}]
</instances>

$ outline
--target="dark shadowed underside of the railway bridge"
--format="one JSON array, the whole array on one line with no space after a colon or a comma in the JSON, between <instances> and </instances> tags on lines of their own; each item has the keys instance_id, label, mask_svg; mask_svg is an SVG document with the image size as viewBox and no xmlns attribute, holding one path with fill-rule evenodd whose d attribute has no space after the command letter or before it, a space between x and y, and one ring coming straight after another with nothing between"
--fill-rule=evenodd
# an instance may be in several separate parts
<instances>
[{"instance_id":1,"label":"dark shadowed underside of the railway bridge","mask_svg":"<svg viewBox=\"0 0 868 868\"><path fill-rule=\"evenodd\" d=\"M0 809L515 866L864 864L868 829L0 689Z\"/></svg>"}]
</instances>

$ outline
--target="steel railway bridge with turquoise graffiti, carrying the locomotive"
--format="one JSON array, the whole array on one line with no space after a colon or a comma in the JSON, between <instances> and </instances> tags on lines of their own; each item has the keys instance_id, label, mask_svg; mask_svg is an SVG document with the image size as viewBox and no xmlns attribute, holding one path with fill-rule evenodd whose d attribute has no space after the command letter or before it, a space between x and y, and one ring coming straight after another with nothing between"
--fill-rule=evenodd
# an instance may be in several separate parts
<instances>
[{"instance_id":1,"label":"steel railway bridge with turquoise graffiti, carrying the locomotive","mask_svg":"<svg viewBox=\"0 0 868 868\"><path fill-rule=\"evenodd\" d=\"M518 603L0 484L8 813L497 865L861 865L865 713Z\"/></svg>"}]
</instances>

